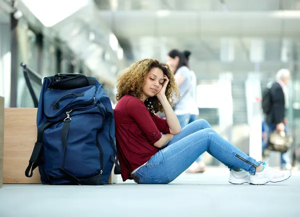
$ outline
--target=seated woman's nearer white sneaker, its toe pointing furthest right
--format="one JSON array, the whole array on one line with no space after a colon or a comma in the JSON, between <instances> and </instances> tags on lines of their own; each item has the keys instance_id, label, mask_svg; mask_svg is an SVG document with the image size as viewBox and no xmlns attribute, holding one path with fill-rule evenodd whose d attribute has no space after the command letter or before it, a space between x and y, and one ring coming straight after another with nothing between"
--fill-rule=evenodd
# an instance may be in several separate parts
<instances>
[{"instance_id":1,"label":"seated woman's nearer white sneaker, its toe pointing furthest right","mask_svg":"<svg viewBox=\"0 0 300 217\"><path fill-rule=\"evenodd\" d=\"M288 170L275 171L264 162L262 165L264 166L264 169L261 172L256 172L254 175L249 175L249 184L264 185L268 182L277 183L287 180L291 176L291 173Z\"/></svg>"}]
</instances>

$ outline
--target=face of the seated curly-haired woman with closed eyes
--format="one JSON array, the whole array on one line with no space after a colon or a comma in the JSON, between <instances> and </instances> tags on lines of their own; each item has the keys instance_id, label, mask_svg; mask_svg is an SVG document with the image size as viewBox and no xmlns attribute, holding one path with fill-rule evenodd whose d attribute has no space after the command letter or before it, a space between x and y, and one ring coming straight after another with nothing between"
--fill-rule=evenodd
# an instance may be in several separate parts
<instances>
[{"instance_id":1,"label":"face of the seated curly-haired woman with closed eyes","mask_svg":"<svg viewBox=\"0 0 300 217\"><path fill-rule=\"evenodd\" d=\"M142 86L142 94L145 98L155 96L162 88L164 82L163 72L160 68L151 68Z\"/></svg>"}]
</instances>

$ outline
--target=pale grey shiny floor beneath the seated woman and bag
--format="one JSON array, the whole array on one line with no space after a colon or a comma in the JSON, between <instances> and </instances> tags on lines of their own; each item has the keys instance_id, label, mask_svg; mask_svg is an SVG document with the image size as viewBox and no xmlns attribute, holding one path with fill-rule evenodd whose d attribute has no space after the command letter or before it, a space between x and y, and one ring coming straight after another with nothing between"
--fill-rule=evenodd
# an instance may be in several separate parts
<instances>
[{"instance_id":1,"label":"pale grey shiny floor beneath the seated woman and bag","mask_svg":"<svg viewBox=\"0 0 300 217\"><path fill-rule=\"evenodd\" d=\"M4 185L0 217L300 217L300 172L264 186L227 178L228 170L209 168L168 185Z\"/></svg>"}]
</instances>

